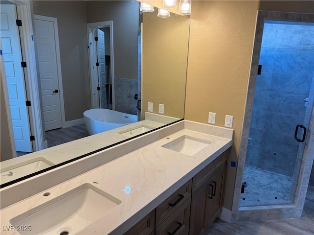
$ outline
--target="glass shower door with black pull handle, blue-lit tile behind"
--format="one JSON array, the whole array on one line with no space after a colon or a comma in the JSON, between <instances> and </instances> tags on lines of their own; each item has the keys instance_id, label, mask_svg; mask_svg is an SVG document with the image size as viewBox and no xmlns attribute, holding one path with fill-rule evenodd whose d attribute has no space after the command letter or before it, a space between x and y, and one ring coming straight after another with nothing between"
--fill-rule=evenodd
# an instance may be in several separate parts
<instances>
[{"instance_id":1,"label":"glass shower door with black pull handle, blue-lit tile behind","mask_svg":"<svg viewBox=\"0 0 314 235\"><path fill-rule=\"evenodd\" d=\"M313 35L313 23L264 22L240 207L293 203L313 109Z\"/></svg>"}]
</instances>

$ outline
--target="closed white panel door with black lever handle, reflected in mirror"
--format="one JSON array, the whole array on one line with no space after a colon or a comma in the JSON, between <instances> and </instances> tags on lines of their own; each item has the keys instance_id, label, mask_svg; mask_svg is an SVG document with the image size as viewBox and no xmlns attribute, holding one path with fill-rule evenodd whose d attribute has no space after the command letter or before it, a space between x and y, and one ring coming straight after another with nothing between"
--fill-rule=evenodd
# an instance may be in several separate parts
<instances>
[{"instance_id":1,"label":"closed white panel door with black lever handle, reflected in mirror","mask_svg":"<svg viewBox=\"0 0 314 235\"><path fill-rule=\"evenodd\" d=\"M45 131L62 127L54 23L35 19Z\"/></svg>"}]
</instances>

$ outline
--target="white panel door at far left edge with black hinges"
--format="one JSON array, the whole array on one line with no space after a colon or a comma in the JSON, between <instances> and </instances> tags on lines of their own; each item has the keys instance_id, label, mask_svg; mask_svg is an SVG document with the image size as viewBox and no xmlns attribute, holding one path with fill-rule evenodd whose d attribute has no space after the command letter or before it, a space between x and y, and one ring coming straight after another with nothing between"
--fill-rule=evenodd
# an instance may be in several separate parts
<instances>
[{"instance_id":1,"label":"white panel door at far left edge with black hinges","mask_svg":"<svg viewBox=\"0 0 314 235\"><path fill-rule=\"evenodd\" d=\"M15 5L1 4L1 43L16 151L32 152L21 44Z\"/></svg>"}]
</instances>

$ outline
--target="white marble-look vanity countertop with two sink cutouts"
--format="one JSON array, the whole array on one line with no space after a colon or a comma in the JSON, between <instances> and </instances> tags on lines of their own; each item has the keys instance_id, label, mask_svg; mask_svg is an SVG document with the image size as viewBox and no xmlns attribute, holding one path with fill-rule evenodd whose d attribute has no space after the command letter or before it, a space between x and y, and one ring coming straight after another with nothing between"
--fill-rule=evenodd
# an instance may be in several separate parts
<instances>
[{"instance_id":1,"label":"white marble-look vanity countertop with two sink cutouts","mask_svg":"<svg viewBox=\"0 0 314 235\"><path fill-rule=\"evenodd\" d=\"M195 128L191 128L193 126ZM110 233L120 235L232 146L233 134L228 134L229 137L225 137L224 134L215 136L190 130L195 129L206 132L204 126L207 129L209 125L188 122L183 130L166 138L8 206L0 211L1 226L10 226L9 220L11 218L52 200L73 188L89 183L118 198L122 203L86 227L69 231L70 234L105 235ZM228 131L233 133L231 129L221 129L223 131L220 131L220 133ZM212 143L193 156L161 147L163 144L183 135L212 141ZM126 190L126 188L130 188L130 190ZM44 197L43 193L47 191L51 194ZM1 234L14 235L19 233L17 231L4 232L2 230Z\"/></svg>"}]
</instances>

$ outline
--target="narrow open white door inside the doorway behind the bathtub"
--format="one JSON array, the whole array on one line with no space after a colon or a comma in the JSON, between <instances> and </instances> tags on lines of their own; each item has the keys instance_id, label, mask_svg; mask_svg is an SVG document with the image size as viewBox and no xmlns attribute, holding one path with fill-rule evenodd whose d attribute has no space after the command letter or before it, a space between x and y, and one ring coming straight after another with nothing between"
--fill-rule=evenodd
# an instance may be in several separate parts
<instances>
[{"instance_id":1,"label":"narrow open white door inside the doorway behind the bathtub","mask_svg":"<svg viewBox=\"0 0 314 235\"><path fill-rule=\"evenodd\" d=\"M97 34L98 34L98 62L99 62L99 67L98 67L98 84L100 87L100 108L107 108L107 90L106 90L106 67L105 67L105 33L104 31L97 29Z\"/></svg>"}]
</instances>

